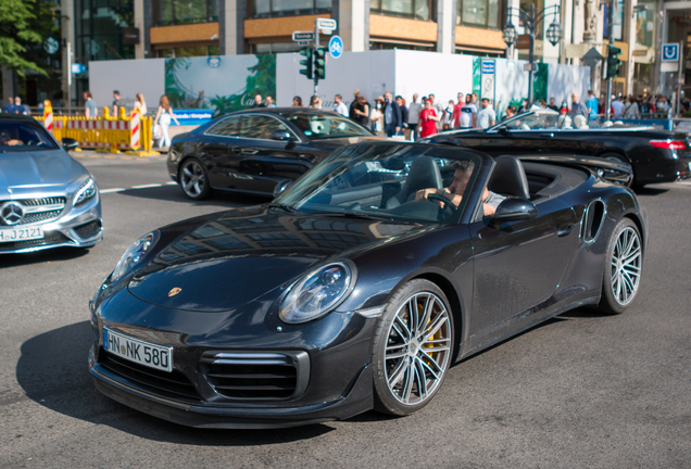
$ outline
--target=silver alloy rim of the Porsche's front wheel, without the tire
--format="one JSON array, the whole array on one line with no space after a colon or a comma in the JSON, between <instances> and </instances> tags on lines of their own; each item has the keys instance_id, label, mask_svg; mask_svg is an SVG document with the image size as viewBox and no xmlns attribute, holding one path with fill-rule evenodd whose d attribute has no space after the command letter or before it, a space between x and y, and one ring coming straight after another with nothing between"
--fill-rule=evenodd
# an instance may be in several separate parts
<instances>
[{"instance_id":1,"label":"silver alloy rim of the Porsche's front wheel, without the tire","mask_svg":"<svg viewBox=\"0 0 691 469\"><path fill-rule=\"evenodd\" d=\"M384 353L385 378L391 395L417 405L435 394L451 357L451 322L434 293L410 296L389 326Z\"/></svg>"}]
</instances>

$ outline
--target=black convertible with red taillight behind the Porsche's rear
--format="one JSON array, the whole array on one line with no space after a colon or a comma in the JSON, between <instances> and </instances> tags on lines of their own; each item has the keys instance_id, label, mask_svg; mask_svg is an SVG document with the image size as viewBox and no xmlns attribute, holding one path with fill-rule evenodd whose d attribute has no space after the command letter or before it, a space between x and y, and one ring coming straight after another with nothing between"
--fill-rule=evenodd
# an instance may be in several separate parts
<instances>
[{"instance_id":1,"label":"black convertible with red taillight behind the Porsche's rear","mask_svg":"<svg viewBox=\"0 0 691 469\"><path fill-rule=\"evenodd\" d=\"M428 139L497 156L585 155L624 162L633 169L632 186L691 178L691 140L687 134L644 126L580 127L544 109L518 114L488 129L453 130Z\"/></svg>"}]
</instances>

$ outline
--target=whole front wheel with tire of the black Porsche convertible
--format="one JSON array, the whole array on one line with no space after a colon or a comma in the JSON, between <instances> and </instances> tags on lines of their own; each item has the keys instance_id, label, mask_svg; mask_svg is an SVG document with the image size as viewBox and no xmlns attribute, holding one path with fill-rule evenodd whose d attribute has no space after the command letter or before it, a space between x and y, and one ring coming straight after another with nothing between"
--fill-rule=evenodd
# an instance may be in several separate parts
<instances>
[{"instance_id":1,"label":"whole front wheel with tire of the black Porsche convertible","mask_svg":"<svg viewBox=\"0 0 691 469\"><path fill-rule=\"evenodd\" d=\"M405 416L429 404L447 377L453 339L453 315L441 289L424 279L403 284L375 333L375 409Z\"/></svg>"}]
</instances>

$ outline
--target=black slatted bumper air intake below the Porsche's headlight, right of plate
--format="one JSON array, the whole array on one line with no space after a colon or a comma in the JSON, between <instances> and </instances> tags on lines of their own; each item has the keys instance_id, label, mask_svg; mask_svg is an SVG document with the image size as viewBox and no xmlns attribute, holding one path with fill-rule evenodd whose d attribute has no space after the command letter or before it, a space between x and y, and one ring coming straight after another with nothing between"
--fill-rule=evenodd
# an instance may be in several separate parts
<instances>
[{"instance_id":1,"label":"black slatted bumper air intake below the Porsche's headlight, right of plate","mask_svg":"<svg viewBox=\"0 0 691 469\"><path fill-rule=\"evenodd\" d=\"M233 400L294 398L310 380L306 352L204 352L199 365L213 389Z\"/></svg>"}]
</instances>

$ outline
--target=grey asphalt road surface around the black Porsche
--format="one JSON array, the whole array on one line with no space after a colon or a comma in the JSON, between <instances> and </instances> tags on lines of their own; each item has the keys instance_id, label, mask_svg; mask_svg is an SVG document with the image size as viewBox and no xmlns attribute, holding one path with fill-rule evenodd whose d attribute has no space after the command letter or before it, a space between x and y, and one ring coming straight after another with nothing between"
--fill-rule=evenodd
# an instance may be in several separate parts
<instances>
[{"instance_id":1,"label":"grey asphalt road surface around the black Porsche","mask_svg":"<svg viewBox=\"0 0 691 469\"><path fill-rule=\"evenodd\" d=\"M167 183L164 157L80 161L103 191L104 241L0 257L0 467L691 466L691 185L640 194L651 239L624 315L577 309L456 364L436 400L407 418L194 430L96 391L87 303L140 234L262 201L189 202Z\"/></svg>"}]
</instances>

